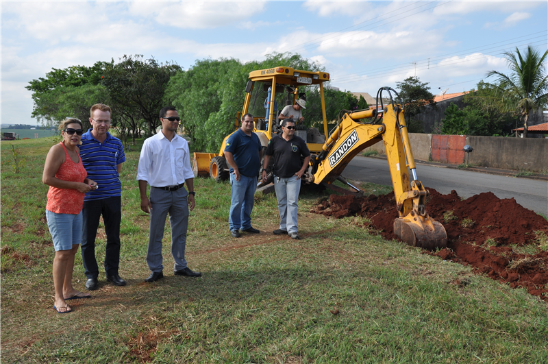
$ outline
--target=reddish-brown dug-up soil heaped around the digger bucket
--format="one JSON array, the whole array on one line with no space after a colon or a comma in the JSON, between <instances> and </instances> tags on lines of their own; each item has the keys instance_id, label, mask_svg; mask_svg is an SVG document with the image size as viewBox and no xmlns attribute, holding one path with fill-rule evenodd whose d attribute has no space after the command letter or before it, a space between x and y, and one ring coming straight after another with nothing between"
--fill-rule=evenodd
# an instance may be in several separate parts
<instances>
[{"instance_id":1,"label":"reddish-brown dug-up soil heaped around the digger bucket","mask_svg":"<svg viewBox=\"0 0 548 364\"><path fill-rule=\"evenodd\" d=\"M478 274L523 287L548 301L548 221L512 199L480 193L461 199L456 191L442 195L428 189L426 210L447 231L447 247L427 252L444 260L471 265ZM397 239L398 217L393 193L369 197L330 195L311 210L336 218L366 217L366 225L384 239ZM369 227L369 226L364 226Z\"/></svg>"}]
</instances>

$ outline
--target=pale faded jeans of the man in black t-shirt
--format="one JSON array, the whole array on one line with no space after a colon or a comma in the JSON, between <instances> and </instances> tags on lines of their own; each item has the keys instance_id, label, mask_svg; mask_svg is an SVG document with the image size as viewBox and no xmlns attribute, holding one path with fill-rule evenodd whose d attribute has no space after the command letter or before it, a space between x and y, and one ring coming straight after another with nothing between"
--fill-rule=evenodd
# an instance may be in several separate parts
<instances>
[{"instance_id":1,"label":"pale faded jeans of the man in black t-shirt","mask_svg":"<svg viewBox=\"0 0 548 364\"><path fill-rule=\"evenodd\" d=\"M288 233L297 232L297 210L301 180L296 175L290 178L274 177L274 189L278 200L279 229Z\"/></svg>"}]
</instances>

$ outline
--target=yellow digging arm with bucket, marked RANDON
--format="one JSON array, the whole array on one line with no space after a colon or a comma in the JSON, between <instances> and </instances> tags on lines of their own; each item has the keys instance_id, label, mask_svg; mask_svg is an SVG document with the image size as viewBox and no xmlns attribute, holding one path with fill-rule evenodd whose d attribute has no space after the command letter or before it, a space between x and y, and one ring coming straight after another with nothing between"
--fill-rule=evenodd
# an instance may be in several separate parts
<instances>
[{"instance_id":1,"label":"yellow digging arm with bucket, marked RANDON","mask_svg":"<svg viewBox=\"0 0 548 364\"><path fill-rule=\"evenodd\" d=\"M446 247L445 228L426 212L428 191L416 177L406 121L399 105L389 104L380 112L344 114L323 145L323 151L312 156L309 182L334 182L354 156L380 141L384 141L399 215L394 221L395 234L409 245L428 250Z\"/></svg>"}]
</instances>

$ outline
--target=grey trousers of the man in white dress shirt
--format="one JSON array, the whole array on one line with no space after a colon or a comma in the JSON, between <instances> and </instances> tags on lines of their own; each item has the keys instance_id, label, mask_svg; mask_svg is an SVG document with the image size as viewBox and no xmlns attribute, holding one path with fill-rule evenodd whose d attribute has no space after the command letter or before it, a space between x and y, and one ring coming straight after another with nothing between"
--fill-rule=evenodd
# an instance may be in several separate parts
<instances>
[{"instance_id":1,"label":"grey trousers of the man in white dress shirt","mask_svg":"<svg viewBox=\"0 0 548 364\"><path fill-rule=\"evenodd\" d=\"M184 250L186 247L186 230L188 229L188 193L181 188L177 191L150 189L150 233L147 264L153 272L164 270L162 264L162 238L166 226L166 215L169 213L171 225L171 254L175 260L175 271L186 268Z\"/></svg>"}]
</instances>

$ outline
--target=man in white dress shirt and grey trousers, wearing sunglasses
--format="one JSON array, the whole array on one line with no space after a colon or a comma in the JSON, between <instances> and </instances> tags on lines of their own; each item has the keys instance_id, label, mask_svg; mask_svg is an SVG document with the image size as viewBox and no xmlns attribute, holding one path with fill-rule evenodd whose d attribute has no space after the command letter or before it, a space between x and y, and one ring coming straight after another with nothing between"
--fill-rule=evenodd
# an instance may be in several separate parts
<instances>
[{"instance_id":1,"label":"man in white dress shirt and grey trousers, wearing sunglasses","mask_svg":"<svg viewBox=\"0 0 548 364\"><path fill-rule=\"evenodd\" d=\"M145 282L164 278L162 237L168 213L171 224L171 254L175 260L174 274L201 276L200 272L187 267L184 258L188 214L189 209L192 211L195 206L195 192L188 143L177 135L179 120L175 108L166 106L160 110L162 130L145 140L137 167L141 210L150 213L147 264L151 275ZM147 184L151 186L150 198L147 197Z\"/></svg>"}]
</instances>

